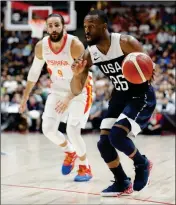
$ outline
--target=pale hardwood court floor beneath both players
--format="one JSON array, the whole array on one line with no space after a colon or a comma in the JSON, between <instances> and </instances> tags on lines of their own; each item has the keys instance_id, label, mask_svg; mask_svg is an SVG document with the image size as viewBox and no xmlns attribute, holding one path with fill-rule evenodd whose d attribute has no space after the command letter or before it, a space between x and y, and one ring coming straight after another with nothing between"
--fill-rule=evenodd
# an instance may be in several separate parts
<instances>
[{"instance_id":1,"label":"pale hardwood court floor beneath both players","mask_svg":"<svg viewBox=\"0 0 176 205\"><path fill-rule=\"evenodd\" d=\"M74 182L77 166L61 174L64 154L41 134L1 135L1 204L175 204L175 136L143 136L137 147L154 163L148 188L135 196L102 198L112 174L97 150L98 135L84 135L94 177ZM6 155L4 155L6 153ZM132 161L120 153L122 165L134 179Z\"/></svg>"}]
</instances>

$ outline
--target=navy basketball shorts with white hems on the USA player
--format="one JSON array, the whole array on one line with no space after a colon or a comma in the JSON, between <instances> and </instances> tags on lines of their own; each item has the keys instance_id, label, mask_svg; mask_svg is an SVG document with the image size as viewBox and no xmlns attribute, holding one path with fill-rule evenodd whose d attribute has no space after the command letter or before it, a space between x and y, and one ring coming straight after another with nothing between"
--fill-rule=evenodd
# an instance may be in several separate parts
<instances>
[{"instance_id":1,"label":"navy basketball shorts with white hems on the USA player","mask_svg":"<svg viewBox=\"0 0 176 205\"><path fill-rule=\"evenodd\" d=\"M100 129L111 129L115 123L127 118L131 124L131 134L136 136L143 130L155 109L156 97L152 86L139 96L129 96L127 93L112 93L108 112L102 120Z\"/></svg>"}]
</instances>

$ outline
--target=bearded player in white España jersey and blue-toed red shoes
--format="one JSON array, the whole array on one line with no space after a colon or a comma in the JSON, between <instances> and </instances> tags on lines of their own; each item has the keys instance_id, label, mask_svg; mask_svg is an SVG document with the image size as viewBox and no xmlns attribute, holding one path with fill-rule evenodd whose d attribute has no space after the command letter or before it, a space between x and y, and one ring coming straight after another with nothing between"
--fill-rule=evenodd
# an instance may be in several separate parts
<instances>
[{"instance_id":1,"label":"bearded player in white Espa\u00f1a jersey and blue-toed red shoes","mask_svg":"<svg viewBox=\"0 0 176 205\"><path fill-rule=\"evenodd\" d=\"M89 181L92 173L86 156L86 145L81 137L81 128L85 126L92 104L91 75L88 76L80 95L75 97L70 90L70 81L73 77L71 65L74 59L84 52L84 46L77 37L66 33L61 15L49 15L46 24L49 35L35 46L35 57L29 70L20 112L24 112L30 92L38 81L46 62L51 86L42 116L42 131L66 154L62 174L67 175L71 172L78 157L79 170L74 180ZM66 114L68 116L67 135L71 143L58 131L59 123Z\"/></svg>"}]
</instances>

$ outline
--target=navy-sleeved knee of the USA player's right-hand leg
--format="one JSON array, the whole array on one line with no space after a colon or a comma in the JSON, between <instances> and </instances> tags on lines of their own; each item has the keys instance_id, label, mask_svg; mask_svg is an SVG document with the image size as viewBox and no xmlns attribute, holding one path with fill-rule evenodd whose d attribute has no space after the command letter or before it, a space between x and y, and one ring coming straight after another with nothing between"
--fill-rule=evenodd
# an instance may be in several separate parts
<instances>
[{"instance_id":1,"label":"navy-sleeved knee of the USA player's right-hand leg","mask_svg":"<svg viewBox=\"0 0 176 205\"><path fill-rule=\"evenodd\" d=\"M109 140L111 144L119 148L127 137L128 133L131 131L131 124L128 119L122 119L114 124L109 135Z\"/></svg>"}]
</instances>

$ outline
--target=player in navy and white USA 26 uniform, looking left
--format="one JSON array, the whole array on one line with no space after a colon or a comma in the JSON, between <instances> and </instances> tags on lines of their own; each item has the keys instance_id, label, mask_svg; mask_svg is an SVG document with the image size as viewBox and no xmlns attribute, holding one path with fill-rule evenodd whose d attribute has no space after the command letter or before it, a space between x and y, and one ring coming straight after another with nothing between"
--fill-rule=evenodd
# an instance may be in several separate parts
<instances>
[{"instance_id":1,"label":"player in navy and white USA 26 uniform, looking left","mask_svg":"<svg viewBox=\"0 0 176 205\"><path fill-rule=\"evenodd\" d=\"M74 76L71 90L78 95L86 82L89 68L94 64L113 83L107 116L101 123L97 144L101 157L114 175L115 182L104 189L102 196L131 194L141 191L149 182L152 162L142 155L129 133L137 135L146 127L155 105L155 94L150 82L129 83L122 74L122 61L131 52L144 52L141 44L132 36L109 33L106 14L93 10L84 19L84 31L89 47L72 65ZM130 69L130 67L129 67ZM124 172L116 149L133 160L135 180Z\"/></svg>"}]
</instances>

